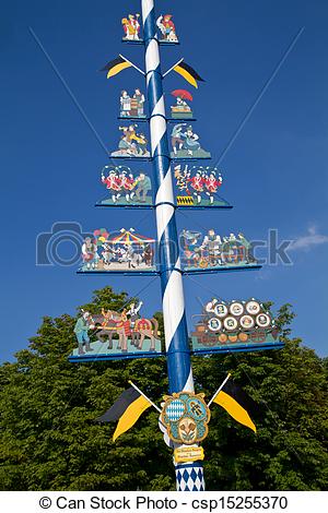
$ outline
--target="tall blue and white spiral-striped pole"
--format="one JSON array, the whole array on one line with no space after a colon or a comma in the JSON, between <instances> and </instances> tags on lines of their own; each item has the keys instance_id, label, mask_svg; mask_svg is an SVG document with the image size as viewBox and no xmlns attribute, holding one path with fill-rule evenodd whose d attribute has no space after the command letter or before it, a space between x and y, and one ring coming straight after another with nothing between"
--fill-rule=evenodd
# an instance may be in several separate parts
<instances>
[{"instance_id":1,"label":"tall blue and white spiral-striped pole","mask_svg":"<svg viewBox=\"0 0 328 513\"><path fill-rule=\"evenodd\" d=\"M169 392L194 392L154 0L141 7ZM175 472L178 491L204 490L200 462L178 464Z\"/></svg>"}]
</instances>

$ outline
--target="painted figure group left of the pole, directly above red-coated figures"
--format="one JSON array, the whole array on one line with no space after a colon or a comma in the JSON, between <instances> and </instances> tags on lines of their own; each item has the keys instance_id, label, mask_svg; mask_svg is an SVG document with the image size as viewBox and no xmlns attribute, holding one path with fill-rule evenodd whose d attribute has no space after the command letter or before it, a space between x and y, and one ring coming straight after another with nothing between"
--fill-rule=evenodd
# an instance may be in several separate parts
<instances>
[{"instance_id":1,"label":"painted figure group left of the pole, directly above red-coated figures","mask_svg":"<svg viewBox=\"0 0 328 513\"><path fill-rule=\"evenodd\" d=\"M137 132L138 124L119 127L122 132L118 143L118 150L110 154L112 157L150 157L147 148L147 138L144 133Z\"/></svg>"}]
</instances>

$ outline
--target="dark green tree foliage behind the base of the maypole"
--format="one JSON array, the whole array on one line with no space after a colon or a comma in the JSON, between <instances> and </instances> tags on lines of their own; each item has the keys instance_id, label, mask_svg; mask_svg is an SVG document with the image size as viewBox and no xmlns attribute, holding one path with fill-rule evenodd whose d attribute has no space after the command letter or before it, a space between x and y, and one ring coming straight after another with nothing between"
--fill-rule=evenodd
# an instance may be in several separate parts
<instances>
[{"instance_id":1,"label":"dark green tree foliage behind the base of the maypole","mask_svg":"<svg viewBox=\"0 0 328 513\"><path fill-rule=\"evenodd\" d=\"M105 287L82 308L120 309L127 300ZM292 319L290 306L282 307L282 350L194 358L198 392L210 398L231 371L259 404L256 436L212 405L203 443L209 490L327 489L327 359L290 338ZM155 410L116 443L114 425L94 422L129 379L160 403L168 385L165 359L69 363L74 322L67 314L44 318L28 349L0 367L0 489L175 489Z\"/></svg>"}]
</instances>

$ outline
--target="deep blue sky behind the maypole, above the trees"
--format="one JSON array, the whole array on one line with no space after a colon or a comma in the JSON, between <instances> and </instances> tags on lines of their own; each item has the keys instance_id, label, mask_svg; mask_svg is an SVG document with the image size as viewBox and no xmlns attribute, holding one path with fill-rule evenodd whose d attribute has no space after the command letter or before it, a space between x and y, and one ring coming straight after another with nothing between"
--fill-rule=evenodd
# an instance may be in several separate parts
<instances>
[{"instance_id":1,"label":"deep blue sky behind the maypole, above the trees","mask_svg":"<svg viewBox=\"0 0 328 513\"><path fill-rule=\"evenodd\" d=\"M35 241L56 222L83 230L133 226L155 235L145 211L94 208L104 193L104 150L28 32L33 28L108 150L118 141L119 92L143 86L127 70L106 81L97 70L119 52L143 67L142 47L120 43L120 20L139 2L66 0L7 2L0 22L2 344L0 359L26 347L43 315L74 313L92 290L112 285L136 295L151 278L78 276L72 266L36 266ZM263 239L269 228L293 239L293 265L253 273L186 278L187 315L215 293L291 302L293 335L327 355L327 2L316 0L159 1L172 12L181 45L162 50L163 69L179 57L206 79L194 93L195 124L213 162L223 152L293 38L304 32L221 163L222 195L234 208L178 214L180 228L243 230ZM173 73L165 90L190 87ZM145 166L143 166L145 167ZM147 170L147 167L145 167ZM151 168L149 168L151 172ZM62 254L72 248L62 244ZM262 254L262 252L261 252ZM144 314L161 309L160 282L144 293Z\"/></svg>"}]
</instances>

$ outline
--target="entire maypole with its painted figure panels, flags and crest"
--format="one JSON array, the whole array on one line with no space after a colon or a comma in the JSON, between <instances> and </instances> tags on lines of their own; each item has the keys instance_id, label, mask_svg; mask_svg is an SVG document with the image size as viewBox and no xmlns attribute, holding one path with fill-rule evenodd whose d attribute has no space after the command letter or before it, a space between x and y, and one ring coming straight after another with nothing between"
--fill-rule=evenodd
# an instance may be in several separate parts
<instances>
[{"instance_id":1,"label":"entire maypole with its painted figure panels, flags and crest","mask_svg":"<svg viewBox=\"0 0 328 513\"><path fill-rule=\"evenodd\" d=\"M140 14L129 14L121 23L125 43L144 46L145 70L119 55L102 71L107 79L126 68L133 67L145 77L145 97L139 88L131 96L121 91L120 116L129 124L119 127L121 132L118 150L109 153L113 160L121 159L124 165L106 164L102 169L101 182L109 198L96 206L115 208L150 208L156 213L156 258L155 239L136 232L134 228L97 228L93 236L85 237L82 244L82 266L79 274L113 274L130 276L160 276L165 332L165 351L157 336L157 320L140 315L143 301L129 300L121 310L107 307L91 313L82 310L77 320L74 334L78 347L69 360L74 362L110 361L128 358L154 358L165 356L169 394L164 395L162 408L131 381L131 387L122 392L114 405L97 420L118 421L113 440L130 429L149 407L161 413L159 425L165 443L174 448L174 466L178 491L204 490L200 442L206 439L211 418L209 406L216 403L239 423L256 431L249 417L253 401L233 379L223 381L212 399L207 404L202 392L195 393L191 369L191 354L210 355L237 351L278 349L283 346L279 329L270 312L255 298L249 300L224 301L212 297L204 303L189 344L183 287L184 274L251 271L260 269L253 254L251 243L242 231L220 236L214 228L207 234L184 229L178 238L176 208L231 208L216 192L222 176L215 166L190 166L201 159L210 159L199 135L192 126L181 121L196 121L188 102L192 95L186 90L174 90L176 105L171 106L171 118L166 118L163 94L163 79L171 71L198 87L201 76L184 59L162 74L160 45L178 43L172 15L155 16L154 0L141 0L143 36L139 37ZM163 37L159 39L157 31ZM150 152L145 134L134 121L149 121ZM172 129L172 151L168 147L167 121ZM127 163L151 162L152 179ZM181 166L181 162L185 165ZM173 166L172 166L173 164ZM152 191L152 192L151 192ZM154 192L154 193L153 193ZM181 248L179 248L179 240ZM216 296L216 295L215 295ZM92 341L89 337L92 334ZM113 336L118 336L116 342ZM131 377L132 378L132 377ZM251 414L253 415L253 414Z\"/></svg>"}]
</instances>

